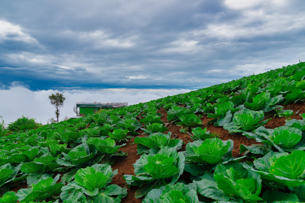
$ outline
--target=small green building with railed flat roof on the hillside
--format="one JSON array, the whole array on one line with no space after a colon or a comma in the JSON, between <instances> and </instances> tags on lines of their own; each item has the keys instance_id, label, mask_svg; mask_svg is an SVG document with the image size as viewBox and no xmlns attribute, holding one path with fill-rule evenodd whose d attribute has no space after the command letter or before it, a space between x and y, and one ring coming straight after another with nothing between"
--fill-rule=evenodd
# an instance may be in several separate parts
<instances>
[{"instance_id":1,"label":"small green building with railed flat roof on the hillside","mask_svg":"<svg viewBox=\"0 0 305 203\"><path fill-rule=\"evenodd\" d=\"M122 106L127 106L128 102L111 102L111 103L101 103L101 102L76 102L73 107L73 111L76 116L84 116L89 113L95 113L100 109L112 109L119 108Z\"/></svg>"}]
</instances>

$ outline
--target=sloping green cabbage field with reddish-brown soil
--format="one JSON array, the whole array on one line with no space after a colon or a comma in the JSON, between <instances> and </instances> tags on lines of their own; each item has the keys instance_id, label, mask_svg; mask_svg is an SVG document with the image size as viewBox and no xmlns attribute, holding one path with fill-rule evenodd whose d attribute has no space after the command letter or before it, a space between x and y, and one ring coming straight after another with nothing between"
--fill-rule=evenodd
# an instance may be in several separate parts
<instances>
[{"instance_id":1,"label":"sloping green cabbage field with reddish-brown soil","mask_svg":"<svg viewBox=\"0 0 305 203\"><path fill-rule=\"evenodd\" d=\"M305 63L0 137L0 203L305 202Z\"/></svg>"}]
</instances>

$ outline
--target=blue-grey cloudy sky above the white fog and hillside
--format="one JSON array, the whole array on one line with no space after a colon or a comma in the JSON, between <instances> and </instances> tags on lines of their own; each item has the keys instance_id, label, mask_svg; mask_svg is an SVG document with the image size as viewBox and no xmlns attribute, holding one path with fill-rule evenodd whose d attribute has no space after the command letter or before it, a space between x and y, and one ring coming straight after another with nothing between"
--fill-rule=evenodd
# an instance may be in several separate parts
<instances>
[{"instance_id":1,"label":"blue-grey cloudy sky above the white fog and hillside","mask_svg":"<svg viewBox=\"0 0 305 203\"><path fill-rule=\"evenodd\" d=\"M0 105L16 86L193 90L305 61L304 10L303 0L1 1Z\"/></svg>"}]
</instances>

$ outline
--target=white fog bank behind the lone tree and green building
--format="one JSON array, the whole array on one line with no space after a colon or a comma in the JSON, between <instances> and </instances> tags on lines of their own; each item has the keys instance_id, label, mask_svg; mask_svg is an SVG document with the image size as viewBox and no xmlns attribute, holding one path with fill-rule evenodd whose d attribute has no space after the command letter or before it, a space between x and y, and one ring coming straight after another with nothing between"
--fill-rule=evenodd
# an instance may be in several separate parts
<instances>
[{"instance_id":1,"label":"white fog bank behind the lone tree and green building","mask_svg":"<svg viewBox=\"0 0 305 203\"><path fill-rule=\"evenodd\" d=\"M61 92L66 98L60 108L59 119L76 114L73 106L76 102L128 102L137 104L166 96L186 93L190 90L139 90L139 89L104 89L92 91L71 90ZM50 104L48 96L58 91L30 91L22 86L14 86L8 90L0 90L0 116L5 123L12 122L18 117L36 118L37 122L46 124L51 117L56 117L55 107Z\"/></svg>"}]
</instances>

